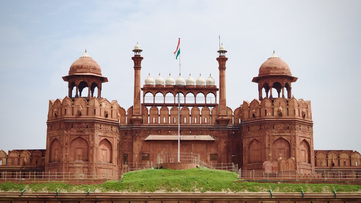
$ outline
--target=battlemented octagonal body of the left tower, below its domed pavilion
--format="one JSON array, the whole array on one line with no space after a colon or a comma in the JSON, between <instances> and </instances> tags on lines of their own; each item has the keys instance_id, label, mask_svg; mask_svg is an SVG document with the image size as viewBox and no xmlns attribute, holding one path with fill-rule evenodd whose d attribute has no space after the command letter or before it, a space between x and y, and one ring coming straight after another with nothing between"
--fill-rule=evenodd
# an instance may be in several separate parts
<instances>
[{"instance_id":1,"label":"battlemented octagonal body of the left tower, below its domed pavilion","mask_svg":"<svg viewBox=\"0 0 361 203\"><path fill-rule=\"evenodd\" d=\"M115 174L121 117L118 112L116 100L68 96L50 100L45 170Z\"/></svg>"}]
</instances>

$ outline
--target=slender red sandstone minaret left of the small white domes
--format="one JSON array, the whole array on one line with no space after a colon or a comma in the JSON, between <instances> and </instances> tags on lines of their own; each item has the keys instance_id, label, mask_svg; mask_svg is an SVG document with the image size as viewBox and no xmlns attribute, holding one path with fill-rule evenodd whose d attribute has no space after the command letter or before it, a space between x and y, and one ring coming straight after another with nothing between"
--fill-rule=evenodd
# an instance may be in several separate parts
<instances>
[{"instance_id":1,"label":"slender red sandstone minaret left of the small white domes","mask_svg":"<svg viewBox=\"0 0 361 203\"><path fill-rule=\"evenodd\" d=\"M133 52L134 56L132 60L134 61L134 103L133 103L133 117L130 120L135 125L140 125L143 123L142 114L140 113L140 69L142 68L143 57L140 56L140 52L143 50L140 49L139 44L137 43L134 46Z\"/></svg>"}]
</instances>

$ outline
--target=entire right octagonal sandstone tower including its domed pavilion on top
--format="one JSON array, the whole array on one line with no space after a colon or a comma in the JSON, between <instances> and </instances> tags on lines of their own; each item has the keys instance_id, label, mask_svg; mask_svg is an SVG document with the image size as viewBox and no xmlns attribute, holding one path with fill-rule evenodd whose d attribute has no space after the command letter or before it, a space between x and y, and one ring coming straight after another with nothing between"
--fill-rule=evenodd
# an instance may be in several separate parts
<instances>
[{"instance_id":1,"label":"entire right octagonal sandstone tower including its domed pavilion on top","mask_svg":"<svg viewBox=\"0 0 361 203\"><path fill-rule=\"evenodd\" d=\"M275 53L253 78L252 82L258 83L259 100L242 104L244 170L314 171L311 102L293 98L291 83L296 80Z\"/></svg>"}]
</instances>

